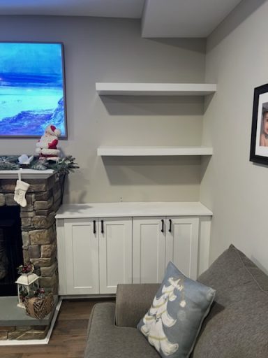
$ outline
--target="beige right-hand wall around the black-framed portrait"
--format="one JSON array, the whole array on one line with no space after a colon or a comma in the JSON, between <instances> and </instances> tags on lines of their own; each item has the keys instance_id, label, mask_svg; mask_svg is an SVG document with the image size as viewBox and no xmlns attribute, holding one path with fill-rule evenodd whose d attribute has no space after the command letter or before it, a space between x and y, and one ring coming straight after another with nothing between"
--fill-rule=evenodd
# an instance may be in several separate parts
<instances>
[{"instance_id":1,"label":"beige right-hand wall around the black-framed portrait","mask_svg":"<svg viewBox=\"0 0 268 358\"><path fill-rule=\"evenodd\" d=\"M249 162L253 89L268 82L267 1L242 1L207 42L204 144L214 155L200 198L214 212L211 261L230 243L268 271L268 168ZM207 163L205 163L207 164Z\"/></svg>"}]
</instances>

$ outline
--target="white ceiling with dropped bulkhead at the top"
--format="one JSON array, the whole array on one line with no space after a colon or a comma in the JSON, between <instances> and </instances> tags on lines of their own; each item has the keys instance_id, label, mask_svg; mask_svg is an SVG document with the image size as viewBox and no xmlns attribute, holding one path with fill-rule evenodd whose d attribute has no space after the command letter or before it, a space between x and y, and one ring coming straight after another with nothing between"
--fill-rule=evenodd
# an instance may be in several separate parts
<instances>
[{"instance_id":1,"label":"white ceiling with dropped bulkhead at the top","mask_svg":"<svg viewBox=\"0 0 268 358\"><path fill-rule=\"evenodd\" d=\"M1 15L128 17L142 37L207 37L241 0L1 0Z\"/></svg>"}]
</instances>

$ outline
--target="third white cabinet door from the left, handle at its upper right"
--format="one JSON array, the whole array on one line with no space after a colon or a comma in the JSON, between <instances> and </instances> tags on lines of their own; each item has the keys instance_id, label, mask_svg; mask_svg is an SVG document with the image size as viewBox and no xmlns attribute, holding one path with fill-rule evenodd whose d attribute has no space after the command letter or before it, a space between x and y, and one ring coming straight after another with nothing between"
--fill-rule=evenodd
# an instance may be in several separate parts
<instances>
[{"instance_id":1,"label":"third white cabinet door from the left, handle at its upper right","mask_svg":"<svg viewBox=\"0 0 268 358\"><path fill-rule=\"evenodd\" d=\"M163 280L165 222L162 220L163 217L133 217L133 283Z\"/></svg>"}]
</instances>

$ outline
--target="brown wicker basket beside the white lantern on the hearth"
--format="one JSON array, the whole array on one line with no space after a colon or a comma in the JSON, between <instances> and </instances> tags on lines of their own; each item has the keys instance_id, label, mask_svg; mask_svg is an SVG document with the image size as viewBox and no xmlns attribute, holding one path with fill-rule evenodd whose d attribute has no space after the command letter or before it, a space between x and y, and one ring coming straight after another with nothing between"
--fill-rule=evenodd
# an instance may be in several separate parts
<instances>
[{"instance_id":1,"label":"brown wicker basket beside the white lantern on the hearth","mask_svg":"<svg viewBox=\"0 0 268 358\"><path fill-rule=\"evenodd\" d=\"M27 315L42 320L48 313L51 312L54 305L53 294L47 294L43 299L40 297L32 297L31 299L25 299L24 305Z\"/></svg>"}]
</instances>

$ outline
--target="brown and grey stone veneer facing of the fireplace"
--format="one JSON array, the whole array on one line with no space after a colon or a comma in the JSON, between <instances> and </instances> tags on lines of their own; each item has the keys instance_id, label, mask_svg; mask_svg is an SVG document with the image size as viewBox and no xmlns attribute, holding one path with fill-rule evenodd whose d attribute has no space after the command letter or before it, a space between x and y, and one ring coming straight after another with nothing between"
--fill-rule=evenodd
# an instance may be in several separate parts
<instances>
[{"instance_id":1,"label":"brown and grey stone veneer facing of the fireplace","mask_svg":"<svg viewBox=\"0 0 268 358\"><path fill-rule=\"evenodd\" d=\"M22 180L24 180L22 178ZM0 179L0 206L17 206L14 201L16 179ZM58 291L57 234L55 215L63 194L64 176L25 179L29 183L27 206L20 208L24 264L31 262L40 276L40 287ZM20 308L23 309L23 308ZM17 324L0 327L0 340L45 338L49 325Z\"/></svg>"}]
</instances>

